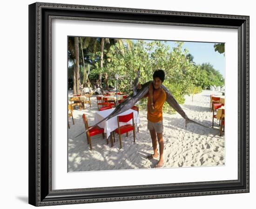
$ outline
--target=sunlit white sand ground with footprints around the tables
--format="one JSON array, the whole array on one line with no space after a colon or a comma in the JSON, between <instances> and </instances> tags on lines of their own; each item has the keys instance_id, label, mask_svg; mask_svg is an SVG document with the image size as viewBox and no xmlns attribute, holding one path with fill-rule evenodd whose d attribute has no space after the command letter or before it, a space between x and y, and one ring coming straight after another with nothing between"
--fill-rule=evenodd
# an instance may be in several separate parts
<instances>
[{"instance_id":1,"label":"sunlit white sand ground with footprints around the tables","mask_svg":"<svg viewBox=\"0 0 256 209\"><path fill-rule=\"evenodd\" d=\"M212 112L209 111L210 94L216 91L204 90L192 97L186 96L182 109L190 119L209 128L191 124L185 128L185 120L178 114L163 113L164 168L191 166L220 166L225 163L224 133L219 136L219 122L215 119L212 125ZM221 93L219 93L221 94ZM85 110L74 110L74 125L69 119L68 129L68 171L121 170L121 169L150 169L154 168L158 159L148 160L153 153L152 142L147 130L147 111L140 110L139 133L136 129L136 142L132 132L122 137L122 149L119 146L118 135L111 147L102 135L93 136L93 150L89 149L82 121L82 114L88 118L89 126L94 124L94 113L97 111L96 98L91 98L92 107L86 104Z\"/></svg>"}]
</instances>

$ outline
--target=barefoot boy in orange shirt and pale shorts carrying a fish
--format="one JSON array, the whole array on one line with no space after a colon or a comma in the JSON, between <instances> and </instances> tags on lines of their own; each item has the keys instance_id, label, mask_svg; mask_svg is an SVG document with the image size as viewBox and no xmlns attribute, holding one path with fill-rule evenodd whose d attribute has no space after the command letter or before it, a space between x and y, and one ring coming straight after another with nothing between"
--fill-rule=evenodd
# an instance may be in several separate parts
<instances>
[{"instance_id":1,"label":"barefoot boy in orange shirt and pale shorts carrying a fish","mask_svg":"<svg viewBox=\"0 0 256 209\"><path fill-rule=\"evenodd\" d=\"M150 132L154 154L150 154L147 158L153 159L158 157L157 153L157 141L159 144L160 158L155 168L161 168L163 166L163 123L162 123L162 106L166 99L166 93L161 88L164 81L165 73L163 70L156 70L153 74L153 83L149 84L148 93L145 97L148 97L148 130ZM138 84L138 89L141 89L141 85ZM157 140L156 140L157 137Z\"/></svg>"}]
</instances>

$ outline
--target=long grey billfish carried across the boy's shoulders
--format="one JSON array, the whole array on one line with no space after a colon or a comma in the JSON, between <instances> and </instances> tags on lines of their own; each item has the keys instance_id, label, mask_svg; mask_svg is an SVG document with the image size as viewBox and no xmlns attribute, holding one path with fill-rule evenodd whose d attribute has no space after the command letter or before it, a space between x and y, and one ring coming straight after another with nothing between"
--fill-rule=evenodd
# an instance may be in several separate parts
<instances>
[{"instance_id":1,"label":"long grey billfish carried across the boy's shoulders","mask_svg":"<svg viewBox=\"0 0 256 209\"><path fill-rule=\"evenodd\" d=\"M140 75L140 70L137 71L136 77L135 77L135 81L134 81L134 87L133 87L133 93L131 93L126 99L123 100L122 103L118 104L115 108L115 110L110 113L106 118L102 119L101 121L99 121L98 123L94 124L93 126L91 126L90 128L88 128L89 131L91 130L94 126L100 124L102 121L104 120L108 120L110 118L113 118L119 114L121 114L124 111L129 110L131 107L133 107L141 98L143 98L147 93L148 93L148 87L149 84L153 81L148 81L147 83L141 85L141 89L137 89L137 84L138 84L138 80L139 80L139 75ZM204 126L200 123L197 123L191 119L189 119L189 117L186 115L186 113L182 110L181 106L177 103L177 101L175 100L175 98L172 96L172 94L168 91L168 89L164 86L161 85L162 89L165 91L166 93L166 102L173 108L175 109L175 111L177 111L182 118L185 119L185 126L187 127L188 123L194 123L194 124L198 124L201 125L203 127L208 128L207 126ZM82 132L81 134L83 134L84 132ZM78 136L80 136L81 134L79 134ZM76 137L78 137L76 136Z\"/></svg>"}]
</instances>

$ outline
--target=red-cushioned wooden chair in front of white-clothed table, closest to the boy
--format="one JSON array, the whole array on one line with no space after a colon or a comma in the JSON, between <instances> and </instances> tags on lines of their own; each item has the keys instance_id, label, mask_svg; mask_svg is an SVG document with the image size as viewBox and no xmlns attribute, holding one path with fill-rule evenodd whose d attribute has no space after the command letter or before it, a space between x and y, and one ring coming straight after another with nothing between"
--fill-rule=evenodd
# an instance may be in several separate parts
<instances>
[{"instance_id":1,"label":"red-cushioned wooden chair in front of white-clothed table, closest to the boy","mask_svg":"<svg viewBox=\"0 0 256 209\"><path fill-rule=\"evenodd\" d=\"M127 123L131 119L133 119L133 125L127 124L127 125L120 126L119 124L120 122ZM133 112L127 115L117 116L117 124L118 124L118 128L115 129L114 132L119 134L120 149L122 148L121 134L123 133L126 133L126 136L128 136L128 132L133 131L133 139L135 142L135 125L134 125ZM114 141L115 141L115 133L113 133Z\"/></svg>"}]
</instances>

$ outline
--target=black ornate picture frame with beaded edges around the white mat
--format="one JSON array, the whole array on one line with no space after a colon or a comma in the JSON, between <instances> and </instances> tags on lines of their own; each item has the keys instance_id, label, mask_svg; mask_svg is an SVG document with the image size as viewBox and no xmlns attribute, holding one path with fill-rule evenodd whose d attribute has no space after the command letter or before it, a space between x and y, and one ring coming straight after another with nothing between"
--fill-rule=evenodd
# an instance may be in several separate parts
<instances>
[{"instance_id":1,"label":"black ornate picture frame with beaded edges around the white mat","mask_svg":"<svg viewBox=\"0 0 256 209\"><path fill-rule=\"evenodd\" d=\"M52 190L51 21L101 20L238 30L238 179ZM34 206L249 192L249 16L94 7L29 5L29 203Z\"/></svg>"}]
</instances>

